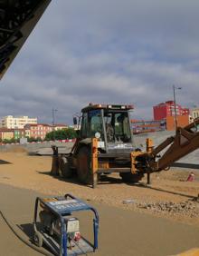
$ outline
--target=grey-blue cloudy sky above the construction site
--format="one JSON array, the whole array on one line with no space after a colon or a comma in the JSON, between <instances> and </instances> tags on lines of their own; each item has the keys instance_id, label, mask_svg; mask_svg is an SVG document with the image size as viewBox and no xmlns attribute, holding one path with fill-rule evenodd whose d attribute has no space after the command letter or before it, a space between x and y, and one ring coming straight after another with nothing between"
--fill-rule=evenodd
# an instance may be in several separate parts
<instances>
[{"instance_id":1,"label":"grey-blue cloudy sky above the construction site","mask_svg":"<svg viewBox=\"0 0 199 256\"><path fill-rule=\"evenodd\" d=\"M198 0L52 0L0 82L0 116L72 123L92 103L199 104Z\"/></svg>"}]
</instances>

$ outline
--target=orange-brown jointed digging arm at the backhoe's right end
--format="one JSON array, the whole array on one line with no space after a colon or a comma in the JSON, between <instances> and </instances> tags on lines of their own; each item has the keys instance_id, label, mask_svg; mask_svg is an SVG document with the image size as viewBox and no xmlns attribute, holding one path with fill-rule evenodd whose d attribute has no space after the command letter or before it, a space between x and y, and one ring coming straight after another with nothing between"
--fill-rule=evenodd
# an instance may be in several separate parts
<instances>
[{"instance_id":1,"label":"orange-brown jointed digging arm at the backhoe's right end","mask_svg":"<svg viewBox=\"0 0 199 256\"><path fill-rule=\"evenodd\" d=\"M155 149L137 155L136 168L141 172L160 172L188 153L199 148L199 118L184 128L178 127L175 136L169 137ZM160 153L162 155L160 156Z\"/></svg>"}]
</instances>

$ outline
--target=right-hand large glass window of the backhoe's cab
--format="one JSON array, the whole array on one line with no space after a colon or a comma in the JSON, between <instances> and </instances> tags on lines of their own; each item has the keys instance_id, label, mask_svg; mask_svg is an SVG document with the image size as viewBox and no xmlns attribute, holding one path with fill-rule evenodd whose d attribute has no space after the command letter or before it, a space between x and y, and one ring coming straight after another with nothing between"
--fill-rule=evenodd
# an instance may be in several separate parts
<instances>
[{"instance_id":1,"label":"right-hand large glass window of the backhoe's cab","mask_svg":"<svg viewBox=\"0 0 199 256\"><path fill-rule=\"evenodd\" d=\"M104 111L108 143L131 143L128 112Z\"/></svg>"}]
</instances>

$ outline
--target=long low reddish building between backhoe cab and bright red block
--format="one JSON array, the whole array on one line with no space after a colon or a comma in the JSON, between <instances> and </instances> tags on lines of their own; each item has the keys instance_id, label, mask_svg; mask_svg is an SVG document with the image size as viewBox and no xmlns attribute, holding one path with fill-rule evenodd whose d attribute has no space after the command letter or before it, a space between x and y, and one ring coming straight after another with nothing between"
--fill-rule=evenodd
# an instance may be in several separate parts
<instances>
[{"instance_id":1,"label":"long low reddish building between backhoe cab and bright red block","mask_svg":"<svg viewBox=\"0 0 199 256\"><path fill-rule=\"evenodd\" d=\"M166 122L162 120L131 120L133 133L152 133L166 130Z\"/></svg>"}]
</instances>

